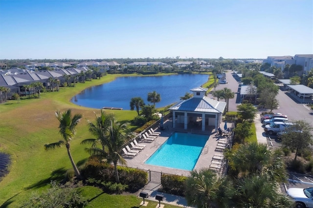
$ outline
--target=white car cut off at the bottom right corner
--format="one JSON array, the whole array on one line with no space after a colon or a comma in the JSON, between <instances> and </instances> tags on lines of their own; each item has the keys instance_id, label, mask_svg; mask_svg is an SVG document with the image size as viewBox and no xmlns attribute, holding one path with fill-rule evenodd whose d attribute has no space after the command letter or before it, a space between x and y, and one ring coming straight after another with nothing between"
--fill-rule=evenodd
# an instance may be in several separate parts
<instances>
[{"instance_id":1,"label":"white car cut off at the bottom right corner","mask_svg":"<svg viewBox=\"0 0 313 208\"><path fill-rule=\"evenodd\" d=\"M289 188L287 195L293 199L296 208L313 208L313 187Z\"/></svg>"}]
</instances>

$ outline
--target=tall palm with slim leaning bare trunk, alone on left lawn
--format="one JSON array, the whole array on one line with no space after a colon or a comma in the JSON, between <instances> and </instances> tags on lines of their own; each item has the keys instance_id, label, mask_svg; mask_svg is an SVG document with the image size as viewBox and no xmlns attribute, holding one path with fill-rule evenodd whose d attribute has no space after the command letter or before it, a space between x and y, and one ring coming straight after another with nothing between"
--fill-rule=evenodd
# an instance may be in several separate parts
<instances>
[{"instance_id":1,"label":"tall palm with slim leaning bare trunk, alone on left lawn","mask_svg":"<svg viewBox=\"0 0 313 208\"><path fill-rule=\"evenodd\" d=\"M51 144L45 144L45 150L49 149L55 149L56 147L61 147L62 144L65 143L65 146L67 148L67 155L69 157L69 160L74 168L75 175L78 179L81 178L80 172L74 163L74 160L72 158L72 155L70 153L70 141L74 138L76 134L76 125L80 121L80 119L83 117L82 114L75 114L72 117L71 110L68 109L67 111L61 113L60 111L55 112L56 118L59 120L59 133L63 137L64 141L59 141L56 143Z\"/></svg>"}]
</instances>

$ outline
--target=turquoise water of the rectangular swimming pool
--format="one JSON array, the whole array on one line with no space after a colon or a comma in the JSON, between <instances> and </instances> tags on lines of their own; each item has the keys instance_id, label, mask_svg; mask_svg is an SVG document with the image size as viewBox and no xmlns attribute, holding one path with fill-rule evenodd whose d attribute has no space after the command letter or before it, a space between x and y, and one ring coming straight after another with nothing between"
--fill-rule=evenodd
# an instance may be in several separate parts
<instances>
[{"instance_id":1,"label":"turquoise water of the rectangular swimming pool","mask_svg":"<svg viewBox=\"0 0 313 208\"><path fill-rule=\"evenodd\" d=\"M145 164L193 170L208 139L208 135L174 132Z\"/></svg>"}]
</instances>

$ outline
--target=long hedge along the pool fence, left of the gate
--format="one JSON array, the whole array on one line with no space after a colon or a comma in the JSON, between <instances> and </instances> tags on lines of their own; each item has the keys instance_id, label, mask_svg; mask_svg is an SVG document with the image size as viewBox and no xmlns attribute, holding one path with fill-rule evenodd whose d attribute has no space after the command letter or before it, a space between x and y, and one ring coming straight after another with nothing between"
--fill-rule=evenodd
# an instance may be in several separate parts
<instances>
[{"instance_id":1,"label":"long hedge along the pool fence, left of the gate","mask_svg":"<svg viewBox=\"0 0 313 208\"><path fill-rule=\"evenodd\" d=\"M144 170L117 166L119 180L122 185L127 185L125 187L128 191L136 191L143 187L148 182L148 173ZM91 157L86 163L84 170L82 171L85 178L88 178L87 182L90 182L90 178L94 180L92 183L97 185L102 185L103 188L108 190L121 190L122 187L113 184L106 184L108 182L115 182L114 166L101 162L98 158ZM92 181L91 180L91 181ZM99 182L101 181L101 183ZM105 182L105 185L102 184Z\"/></svg>"}]
</instances>

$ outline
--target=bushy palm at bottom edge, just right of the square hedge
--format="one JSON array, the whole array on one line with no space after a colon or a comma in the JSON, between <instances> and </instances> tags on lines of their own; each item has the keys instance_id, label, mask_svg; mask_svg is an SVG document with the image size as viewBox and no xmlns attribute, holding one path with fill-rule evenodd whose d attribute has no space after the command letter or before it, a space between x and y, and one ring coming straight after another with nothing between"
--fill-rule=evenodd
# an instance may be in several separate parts
<instances>
[{"instance_id":1,"label":"bushy palm at bottom edge, just right of the square hedge","mask_svg":"<svg viewBox=\"0 0 313 208\"><path fill-rule=\"evenodd\" d=\"M217 174L208 168L192 170L186 180L186 200L188 206L198 208L215 208L220 201L221 193Z\"/></svg>"}]
</instances>

